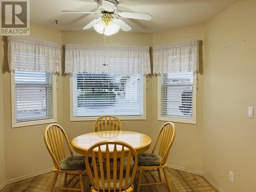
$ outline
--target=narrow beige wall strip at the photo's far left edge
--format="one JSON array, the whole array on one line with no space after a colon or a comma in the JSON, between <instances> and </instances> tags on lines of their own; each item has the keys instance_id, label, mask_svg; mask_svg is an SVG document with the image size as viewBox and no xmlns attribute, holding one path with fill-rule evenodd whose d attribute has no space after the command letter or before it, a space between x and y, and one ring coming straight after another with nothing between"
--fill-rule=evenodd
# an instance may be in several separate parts
<instances>
[{"instance_id":1,"label":"narrow beige wall strip at the photo's far left edge","mask_svg":"<svg viewBox=\"0 0 256 192\"><path fill-rule=\"evenodd\" d=\"M2 41L0 41L0 61L3 59ZM0 188L5 182L5 127L4 127L4 94L3 62L0 62Z\"/></svg>"}]
</instances>

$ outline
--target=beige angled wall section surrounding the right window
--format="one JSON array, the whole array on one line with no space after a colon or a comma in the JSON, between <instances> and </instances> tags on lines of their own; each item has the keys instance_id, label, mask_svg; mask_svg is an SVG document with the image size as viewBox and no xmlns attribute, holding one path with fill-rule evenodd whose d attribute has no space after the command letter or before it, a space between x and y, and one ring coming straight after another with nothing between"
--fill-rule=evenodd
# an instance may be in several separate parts
<instances>
[{"instance_id":1,"label":"beige angled wall section surrounding the right window","mask_svg":"<svg viewBox=\"0 0 256 192\"><path fill-rule=\"evenodd\" d=\"M201 40L201 53L203 55L202 40L204 40L204 25L183 27L171 31L153 34L153 45L163 45L180 41ZM202 172L202 129L203 129L203 75L202 58L200 59L200 73L198 74L197 91L197 124L175 123L177 135L170 152L167 163L187 169ZM163 121L157 120L157 76L152 77L152 120L153 136L156 137Z\"/></svg>"}]
</instances>

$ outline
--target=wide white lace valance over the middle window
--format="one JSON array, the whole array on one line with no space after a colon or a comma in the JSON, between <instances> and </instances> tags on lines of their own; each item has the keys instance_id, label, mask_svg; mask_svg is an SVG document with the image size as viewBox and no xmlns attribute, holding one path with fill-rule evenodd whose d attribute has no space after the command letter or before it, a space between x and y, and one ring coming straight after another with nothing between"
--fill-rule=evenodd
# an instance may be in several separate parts
<instances>
[{"instance_id":1,"label":"wide white lace valance over the middle window","mask_svg":"<svg viewBox=\"0 0 256 192\"><path fill-rule=\"evenodd\" d=\"M65 73L149 74L149 47L65 45Z\"/></svg>"}]
</instances>

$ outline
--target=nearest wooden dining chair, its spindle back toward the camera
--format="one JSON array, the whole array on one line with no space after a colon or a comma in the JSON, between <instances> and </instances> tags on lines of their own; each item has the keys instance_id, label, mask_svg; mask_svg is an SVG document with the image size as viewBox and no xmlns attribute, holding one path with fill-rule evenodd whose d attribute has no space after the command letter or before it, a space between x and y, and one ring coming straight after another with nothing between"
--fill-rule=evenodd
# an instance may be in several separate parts
<instances>
[{"instance_id":1,"label":"nearest wooden dining chair, its spindle back toward the camera","mask_svg":"<svg viewBox=\"0 0 256 192\"><path fill-rule=\"evenodd\" d=\"M132 165L133 156L134 164ZM90 157L92 163L90 163ZM118 165L118 158L120 158L120 165ZM92 184L91 191L133 191L137 164L137 152L127 143L102 141L94 144L86 153L86 168Z\"/></svg>"}]
</instances>

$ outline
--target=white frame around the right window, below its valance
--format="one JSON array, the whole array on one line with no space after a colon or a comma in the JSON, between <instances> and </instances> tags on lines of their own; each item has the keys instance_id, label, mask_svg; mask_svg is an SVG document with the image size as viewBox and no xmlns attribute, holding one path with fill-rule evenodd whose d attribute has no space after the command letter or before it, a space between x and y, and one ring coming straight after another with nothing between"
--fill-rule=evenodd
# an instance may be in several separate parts
<instances>
[{"instance_id":1,"label":"white frame around the right window, below its valance","mask_svg":"<svg viewBox=\"0 0 256 192\"><path fill-rule=\"evenodd\" d=\"M173 117L163 117L162 116L162 76L161 74L157 75L158 80L158 120L159 121L172 121L179 123L189 123L197 124L197 73L193 74L193 118L192 119L183 119L183 118L173 118Z\"/></svg>"}]
</instances>

